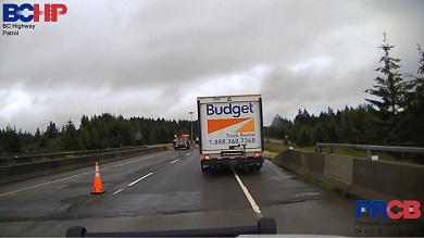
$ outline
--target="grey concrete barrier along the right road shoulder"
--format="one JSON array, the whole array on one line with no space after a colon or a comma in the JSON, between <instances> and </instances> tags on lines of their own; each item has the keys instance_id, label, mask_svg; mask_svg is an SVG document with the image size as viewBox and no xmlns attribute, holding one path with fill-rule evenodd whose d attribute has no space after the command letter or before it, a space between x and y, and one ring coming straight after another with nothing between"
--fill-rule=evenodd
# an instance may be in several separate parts
<instances>
[{"instance_id":1,"label":"grey concrete barrier along the right road shoulder","mask_svg":"<svg viewBox=\"0 0 424 238\"><path fill-rule=\"evenodd\" d=\"M424 204L424 166L286 150L273 163L358 198L417 200Z\"/></svg>"}]
</instances>

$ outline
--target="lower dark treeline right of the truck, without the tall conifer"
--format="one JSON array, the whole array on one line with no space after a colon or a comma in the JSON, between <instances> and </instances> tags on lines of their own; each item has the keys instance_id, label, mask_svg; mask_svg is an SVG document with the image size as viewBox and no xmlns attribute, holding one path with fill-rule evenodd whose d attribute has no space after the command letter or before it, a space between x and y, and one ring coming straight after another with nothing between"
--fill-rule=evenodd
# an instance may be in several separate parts
<instances>
[{"instance_id":1,"label":"lower dark treeline right of the truck, without the tall conifer","mask_svg":"<svg viewBox=\"0 0 424 238\"><path fill-rule=\"evenodd\" d=\"M320 115L311 115L305 109L299 110L294 121L276 115L264 133L266 137L283 139L286 143L299 147L312 147L316 142L424 146L421 135L411 137L398 131L401 130L400 127L387 134L383 127L378 113L371 105L362 104L358 108L346 107L336 112L328 108Z\"/></svg>"}]
</instances>

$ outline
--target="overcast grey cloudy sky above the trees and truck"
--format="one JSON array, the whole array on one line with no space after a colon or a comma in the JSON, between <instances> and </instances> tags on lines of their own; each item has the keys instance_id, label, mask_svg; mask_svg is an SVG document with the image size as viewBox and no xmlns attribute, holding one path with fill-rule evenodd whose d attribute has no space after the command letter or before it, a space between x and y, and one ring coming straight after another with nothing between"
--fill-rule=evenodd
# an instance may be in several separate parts
<instances>
[{"instance_id":1,"label":"overcast grey cloudy sky above the trees and truck","mask_svg":"<svg viewBox=\"0 0 424 238\"><path fill-rule=\"evenodd\" d=\"M384 32L400 73L416 73L424 47L422 0L46 3L67 13L0 36L0 128L103 112L190 120L196 97L240 93L263 96L270 125L364 103Z\"/></svg>"}]
</instances>

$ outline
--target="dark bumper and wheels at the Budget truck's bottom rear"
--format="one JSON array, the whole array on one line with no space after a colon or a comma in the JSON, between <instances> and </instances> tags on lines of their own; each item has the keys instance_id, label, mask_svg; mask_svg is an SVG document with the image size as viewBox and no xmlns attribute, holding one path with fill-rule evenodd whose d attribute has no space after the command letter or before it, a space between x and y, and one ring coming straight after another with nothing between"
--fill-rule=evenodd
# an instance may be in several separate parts
<instances>
[{"instance_id":1,"label":"dark bumper and wheels at the Budget truck's bottom rear","mask_svg":"<svg viewBox=\"0 0 424 238\"><path fill-rule=\"evenodd\" d=\"M212 160L201 160L202 170L204 167L216 167L216 166L226 166L226 167L238 167L241 165L255 166L259 168L264 162L263 158L246 158L246 159L212 159Z\"/></svg>"}]
</instances>

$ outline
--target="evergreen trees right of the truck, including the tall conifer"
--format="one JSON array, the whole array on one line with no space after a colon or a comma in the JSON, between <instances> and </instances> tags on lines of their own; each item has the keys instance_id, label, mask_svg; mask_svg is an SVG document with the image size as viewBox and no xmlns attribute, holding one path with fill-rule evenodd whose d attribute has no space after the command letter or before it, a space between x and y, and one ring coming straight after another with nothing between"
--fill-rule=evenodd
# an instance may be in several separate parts
<instances>
[{"instance_id":1,"label":"evergreen trees right of the truck, including the tall conifer","mask_svg":"<svg viewBox=\"0 0 424 238\"><path fill-rule=\"evenodd\" d=\"M401 60L392 58L384 34L379 47L384 55L375 71L378 75L373 98L357 108L346 107L320 115L299 110L294 121L277 115L265 128L267 137L280 138L300 147L316 142L424 147L424 52L417 45L417 75L399 73Z\"/></svg>"}]
</instances>

